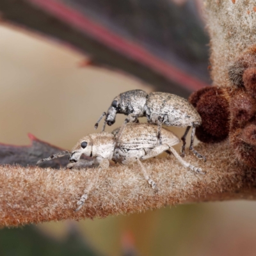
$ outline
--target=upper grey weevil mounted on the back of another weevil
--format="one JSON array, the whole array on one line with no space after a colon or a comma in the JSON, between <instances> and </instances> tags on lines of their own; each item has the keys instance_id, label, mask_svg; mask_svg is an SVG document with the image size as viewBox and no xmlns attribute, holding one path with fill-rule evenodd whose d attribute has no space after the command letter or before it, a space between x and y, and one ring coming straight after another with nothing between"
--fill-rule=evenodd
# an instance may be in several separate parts
<instances>
[{"instance_id":1,"label":"upper grey weevil mounted on the back of another weevil","mask_svg":"<svg viewBox=\"0 0 256 256\"><path fill-rule=\"evenodd\" d=\"M196 109L188 102L188 100L165 92L152 92L147 94L143 90L131 90L120 93L113 99L108 112L102 113L94 126L95 129L97 129L100 120L102 120L104 116L106 116L106 118L102 131L104 131L106 124L109 126L113 125L115 123L116 114L118 113L127 115L127 118L125 119L118 136L116 136L117 144L119 138L122 136L124 127L128 122L138 122L139 117L147 116L147 122L149 124L158 125L159 144L162 143L162 125L187 127L181 138L183 141L181 147L182 157L185 155L186 136L188 135L189 129L192 127L189 149L192 150L196 157L206 161L206 158L199 154L193 147L196 126L200 125L202 120Z\"/></svg>"}]
</instances>

